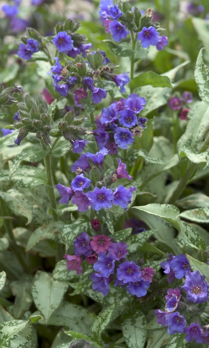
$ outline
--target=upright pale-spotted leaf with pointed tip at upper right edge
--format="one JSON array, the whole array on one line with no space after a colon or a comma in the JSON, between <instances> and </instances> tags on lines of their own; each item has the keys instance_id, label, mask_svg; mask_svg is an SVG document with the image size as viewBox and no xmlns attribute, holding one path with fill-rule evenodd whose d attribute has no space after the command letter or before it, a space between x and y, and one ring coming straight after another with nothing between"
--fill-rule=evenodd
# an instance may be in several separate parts
<instances>
[{"instance_id":1,"label":"upright pale-spotted leaf with pointed tip at upper right edge","mask_svg":"<svg viewBox=\"0 0 209 348\"><path fill-rule=\"evenodd\" d=\"M203 49L204 48L201 48L196 61L194 77L196 84L198 85L198 93L200 98L203 100L203 102L209 105L209 69L203 62Z\"/></svg>"}]
</instances>

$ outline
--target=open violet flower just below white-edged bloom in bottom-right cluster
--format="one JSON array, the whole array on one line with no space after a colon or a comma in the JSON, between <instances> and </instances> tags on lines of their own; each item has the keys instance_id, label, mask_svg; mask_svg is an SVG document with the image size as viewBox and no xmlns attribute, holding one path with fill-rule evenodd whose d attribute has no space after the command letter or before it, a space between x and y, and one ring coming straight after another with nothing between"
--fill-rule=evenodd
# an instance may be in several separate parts
<instances>
[{"instance_id":1,"label":"open violet flower just below white-edged bloom in bottom-right cluster","mask_svg":"<svg viewBox=\"0 0 209 348\"><path fill-rule=\"evenodd\" d=\"M168 325L168 333L183 333L186 326L186 319L179 312L169 313L165 316L166 324Z\"/></svg>"}]
</instances>

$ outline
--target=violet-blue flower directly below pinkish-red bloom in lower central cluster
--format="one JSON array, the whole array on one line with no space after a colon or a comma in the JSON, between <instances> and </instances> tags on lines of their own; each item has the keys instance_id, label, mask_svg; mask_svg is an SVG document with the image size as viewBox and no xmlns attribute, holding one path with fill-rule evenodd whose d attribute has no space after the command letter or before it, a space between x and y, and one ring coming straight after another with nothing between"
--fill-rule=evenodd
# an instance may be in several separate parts
<instances>
[{"instance_id":1,"label":"violet-blue flower directly below pinkish-red bloom in lower central cluster","mask_svg":"<svg viewBox=\"0 0 209 348\"><path fill-rule=\"evenodd\" d=\"M94 263L93 269L102 277L109 278L110 274L114 273L115 268L115 258L114 255L104 252L100 252L98 255L98 260Z\"/></svg>"}]
</instances>

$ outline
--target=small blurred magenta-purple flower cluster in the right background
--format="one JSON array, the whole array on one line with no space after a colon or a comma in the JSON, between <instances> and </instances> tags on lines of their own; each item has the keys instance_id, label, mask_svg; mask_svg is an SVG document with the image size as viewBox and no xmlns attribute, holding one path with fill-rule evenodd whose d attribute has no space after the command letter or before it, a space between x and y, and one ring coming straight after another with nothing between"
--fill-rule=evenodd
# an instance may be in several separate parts
<instances>
[{"instance_id":1,"label":"small blurred magenta-purple flower cluster in the right background","mask_svg":"<svg viewBox=\"0 0 209 348\"><path fill-rule=\"evenodd\" d=\"M184 106L183 106L183 103L185 103ZM172 95L168 102L172 110L178 110L178 111L181 110L179 113L179 118L181 120L186 120L187 114L190 111L190 109L188 108L188 104L191 104L191 103L193 103L192 93L186 90L183 92L181 99L177 96Z\"/></svg>"}]
</instances>

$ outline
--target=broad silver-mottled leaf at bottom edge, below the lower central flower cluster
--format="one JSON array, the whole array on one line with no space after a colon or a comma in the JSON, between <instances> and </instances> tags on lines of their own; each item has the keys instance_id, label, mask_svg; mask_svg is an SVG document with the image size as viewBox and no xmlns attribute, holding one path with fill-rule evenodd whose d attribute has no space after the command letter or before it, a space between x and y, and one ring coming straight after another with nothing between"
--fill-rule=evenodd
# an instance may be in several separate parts
<instances>
[{"instance_id":1,"label":"broad silver-mottled leaf at bottom edge, below the lower central flower cluster","mask_svg":"<svg viewBox=\"0 0 209 348\"><path fill-rule=\"evenodd\" d=\"M140 330L146 324L142 311L136 309L121 324L125 343L129 348L144 348L147 332Z\"/></svg>"}]
</instances>

